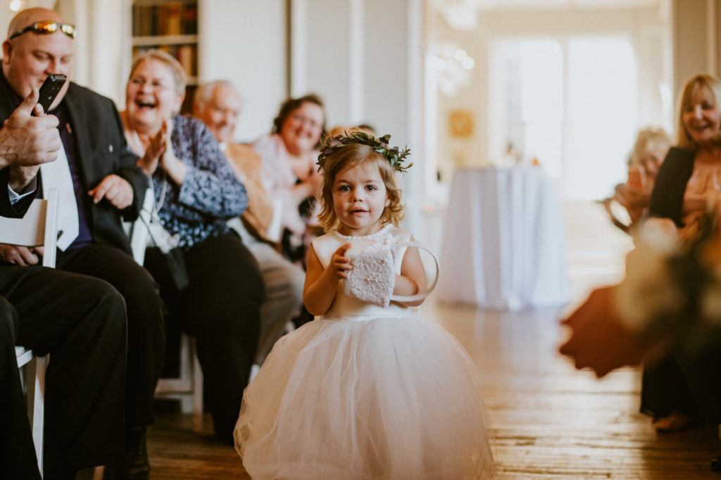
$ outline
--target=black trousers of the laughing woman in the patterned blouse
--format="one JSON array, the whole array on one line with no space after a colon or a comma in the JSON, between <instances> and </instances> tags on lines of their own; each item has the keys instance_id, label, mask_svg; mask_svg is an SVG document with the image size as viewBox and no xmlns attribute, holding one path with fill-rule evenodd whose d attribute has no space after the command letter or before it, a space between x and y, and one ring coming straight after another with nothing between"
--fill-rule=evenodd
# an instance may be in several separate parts
<instances>
[{"instance_id":1,"label":"black trousers of the laughing woman in the patterned blouse","mask_svg":"<svg viewBox=\"0 0 721 480\"><path fill-rule=\"evenodd\" d=\"M162 284L161 295L170 321L196 337L216 435L233 443L260 336L265 284L255 257L232 233L193 246L185 265L190 285L178 292Z\"/></svg>"}]
</instances>

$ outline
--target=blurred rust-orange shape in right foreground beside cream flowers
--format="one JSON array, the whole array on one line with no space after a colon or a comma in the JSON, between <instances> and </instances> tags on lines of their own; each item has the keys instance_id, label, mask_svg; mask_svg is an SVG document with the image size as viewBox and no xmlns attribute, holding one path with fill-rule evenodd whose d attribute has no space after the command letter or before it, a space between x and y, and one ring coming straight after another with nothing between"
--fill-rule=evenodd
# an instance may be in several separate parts
<instances>
[{"instance_id":1,"label":"blurred rust-orange shape in right foreground beside cream flowers","mask_svg":"<svg viewBox=\"0 0 721 480\"><path fill-rule=\"evenodd\" d=\"M651 350L619 321L611 307L611 287L593 290L561 323L570 326L571 337L559 351L572 357L576 368L590 367L598 378L616 368L638 365Z\"/></svg>"}]
</instances>

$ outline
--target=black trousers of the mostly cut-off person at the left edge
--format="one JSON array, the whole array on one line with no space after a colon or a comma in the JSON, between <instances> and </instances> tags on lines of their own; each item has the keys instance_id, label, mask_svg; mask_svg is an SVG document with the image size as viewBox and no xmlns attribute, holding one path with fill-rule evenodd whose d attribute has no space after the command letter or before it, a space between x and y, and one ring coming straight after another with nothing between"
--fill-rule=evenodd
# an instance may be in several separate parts
<instances>
[{"instance_id":1,"label":"black trousers of the mostly cut-off person at the left edge","mask_svg":"<svg viewBox=\"0 0 721 480\"><path fill-rule=\"evenodd\" d=\"M0 472L37 479L15 345L50 354L45 375L45 479L123 458L125 306L106 282L0 262ZM8 379L7 381L5 379ZM14 435L16 435L15 437ZM15 468L15 470L14 470Z\"/></svg>"}]
</instances>

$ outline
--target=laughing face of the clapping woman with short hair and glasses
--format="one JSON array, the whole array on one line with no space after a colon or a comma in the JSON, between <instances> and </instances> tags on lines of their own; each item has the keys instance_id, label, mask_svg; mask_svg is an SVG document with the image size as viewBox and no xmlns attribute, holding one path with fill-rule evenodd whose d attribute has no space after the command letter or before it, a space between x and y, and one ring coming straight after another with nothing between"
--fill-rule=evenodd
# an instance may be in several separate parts
<instances>
[{"instance_id":1,"label":"laughing face of the clapping woman with short hair and glasses","mask_svg":"<svg viewBox=\"0 0 721 480\"><path fill-rule=\"evenodd\" d=\"M181 104L182 95L175 91L170 66L154 58L138 63L125 87L125 110L135 128L156 133Z\"/></svg>"}]
</instances>

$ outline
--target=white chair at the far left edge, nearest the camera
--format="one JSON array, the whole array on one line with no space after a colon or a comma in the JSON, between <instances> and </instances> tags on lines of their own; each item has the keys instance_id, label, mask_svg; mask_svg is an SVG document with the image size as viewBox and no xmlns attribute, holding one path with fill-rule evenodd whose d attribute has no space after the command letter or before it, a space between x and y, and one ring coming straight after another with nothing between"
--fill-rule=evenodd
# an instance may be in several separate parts
<instances>
[{"instance_id":1,"label":"white chair at the far left edge, nearest the camera","mask_svg":"<svg viewBox=\"0 0 721 480\"><path fill-rule=\"evenodd\" d=\"M43 266L55 268L57 249L58 190L51 188L47 199L33 200L23 218L0 217L0 243L43 246ZM45 368L48 355L38 357L25 347L15 347L17 366L25 370L27 416L32 427L37 466L43 475L43 424L45 413Z\"/></svg>"}]
</instances>

